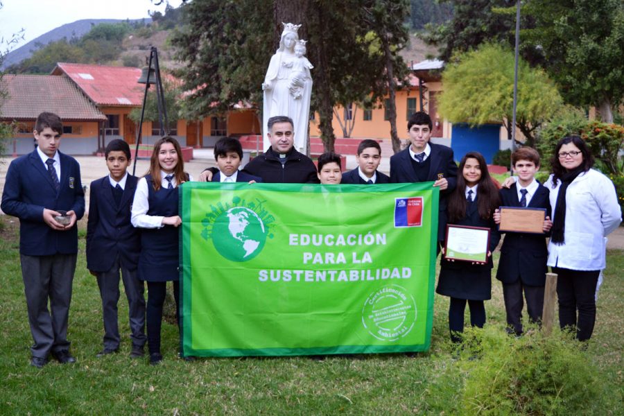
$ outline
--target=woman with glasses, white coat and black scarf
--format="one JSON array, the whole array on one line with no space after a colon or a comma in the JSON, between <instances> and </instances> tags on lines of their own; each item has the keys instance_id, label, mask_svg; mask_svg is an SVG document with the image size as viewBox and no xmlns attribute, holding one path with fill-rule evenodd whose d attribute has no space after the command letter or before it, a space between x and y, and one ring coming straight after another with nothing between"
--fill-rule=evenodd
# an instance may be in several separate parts
<instances>
[{"instance_id":1,"label":"woman with glasses, white coat and black scarf","mask_svg":"<svg viewBox=\"0 0 624 416\"><path fill-rule=\"evenodd\" d=\"M613 182L591 168L593 157L580 137L561 139L551 165L544 184L553 209L548 266L558 275L559 323L575 330L578 340L589 340L596 283L606 267L605 237L621 223L622 212Z\"/></svg>"}]
</instances>

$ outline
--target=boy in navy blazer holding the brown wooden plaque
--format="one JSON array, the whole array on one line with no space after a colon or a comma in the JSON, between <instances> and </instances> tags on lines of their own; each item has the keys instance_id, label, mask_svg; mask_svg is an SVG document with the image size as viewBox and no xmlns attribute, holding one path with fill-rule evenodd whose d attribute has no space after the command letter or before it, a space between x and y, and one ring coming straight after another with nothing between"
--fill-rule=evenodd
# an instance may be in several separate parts
<instances>
[{"instance_id":1,"label":"boy in navy blazer holding the brown wooden plaque","mask_svg":"<svg viewBox=\"0 0 624 416\"><path fill-rule=\"evenodd\" d=\"M508 331L517 336L522 333L522 292L526 298L529 321L539 323L544 307L544 284L546 284L546 234L550 231L551 204L548 188L537 182L539 153L533 148L519 148L512 154L512 165L518 181L510 188L499 191L503 207L529 207L546 209L544 234L508 232L501 247L501 259L496 279L503 283L503 299L507 313ZM494 211L494 222L501 223L499 210Z\"/></svg>"}]
</instances>

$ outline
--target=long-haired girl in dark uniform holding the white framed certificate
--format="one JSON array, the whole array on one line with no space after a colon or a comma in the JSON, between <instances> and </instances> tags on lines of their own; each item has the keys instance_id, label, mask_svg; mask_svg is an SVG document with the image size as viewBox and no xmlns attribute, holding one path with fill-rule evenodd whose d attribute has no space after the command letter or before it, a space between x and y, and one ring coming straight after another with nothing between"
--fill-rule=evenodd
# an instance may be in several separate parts
<instances>
[{"instance_id":1,"label":"long-haired girl in dark uniform holding the white framed certificate","mask_svg":"<svg viewBox=\"0 0 624 416\"><path fill-rule=\"evenodd\" d=\"M499 191L489 176L483 155L467 153L460 162L459 171L461 175L457 177L457 187L449 196L448 223L487 227L490 234L485 264L447 260L442 250L436 292L451 297L449 329L454 343L462 339L466 303L470 309L471 325L481 328L485 324L483 301L492 297L492 252L501 239L492 219L494 209L500 205Z\"/></svg>"}]
</instances>

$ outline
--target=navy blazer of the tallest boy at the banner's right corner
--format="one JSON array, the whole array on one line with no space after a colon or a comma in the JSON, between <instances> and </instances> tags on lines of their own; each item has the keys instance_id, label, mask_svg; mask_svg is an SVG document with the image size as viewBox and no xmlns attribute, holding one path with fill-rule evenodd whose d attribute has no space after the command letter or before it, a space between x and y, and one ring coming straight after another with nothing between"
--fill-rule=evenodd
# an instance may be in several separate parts
<instances>
[{"instance_id":1,"label":"navy blazer of the tallest boy at the banner's right corner","mask_svg":"<svg viewBox=\"0 0 624 416\"><path fill-rule=\"evenodd\" d=\"M445 177L449 182L449 187L444 191L440 191L440 212L438 214L437 239L444 240L447 230L447 200L453 189L457 187L457 164L453 157L453 150L441 144L429 142L431 153L428 159L431 159L427 182ZM412 166L412 157L410 149L401 150L390 157L390 182L393 184L404 182L419 182L416 172Z\"/></svg>"}]
</instances>

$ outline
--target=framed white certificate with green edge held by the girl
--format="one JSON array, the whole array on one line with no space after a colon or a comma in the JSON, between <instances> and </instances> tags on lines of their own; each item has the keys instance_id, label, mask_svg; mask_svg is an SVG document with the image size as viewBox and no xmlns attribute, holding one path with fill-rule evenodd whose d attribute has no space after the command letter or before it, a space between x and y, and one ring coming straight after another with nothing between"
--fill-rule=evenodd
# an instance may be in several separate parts
<instances>
[{"instance_id":1,"label":"framed white certificate with green edge held by the girl","mask_svg":"<svg viewBox=\"0 0 624 416\"><path fill-rule=\"evenodd\" d=\"M447 225L445 259L487 263L488 251L489 228Z\"/></svg>"}]
</instances>

